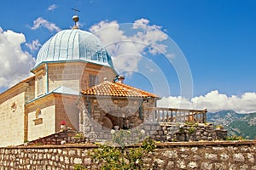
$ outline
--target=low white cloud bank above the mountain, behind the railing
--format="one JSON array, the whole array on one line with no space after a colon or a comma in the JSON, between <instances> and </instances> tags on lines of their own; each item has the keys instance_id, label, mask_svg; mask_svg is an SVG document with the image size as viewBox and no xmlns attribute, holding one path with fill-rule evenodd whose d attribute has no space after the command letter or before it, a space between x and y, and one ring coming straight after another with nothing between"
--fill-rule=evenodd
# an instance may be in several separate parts
<instances>
[{"instance_id":1,"label":"low white cloud bank above the mountain, behind the railing","mask_svg":"<svg viewBox=\"0 0 256 170\"><path fill-rule=\"evenodd\" d=\"M206 95L194 97L190 101L182 97L164 97L158 101L160 107L205 109L209 112L234 110L238 113L256 112L256 93L245 93L240 96L219 94L213 90Z\"/></svg>"}]
</instances>

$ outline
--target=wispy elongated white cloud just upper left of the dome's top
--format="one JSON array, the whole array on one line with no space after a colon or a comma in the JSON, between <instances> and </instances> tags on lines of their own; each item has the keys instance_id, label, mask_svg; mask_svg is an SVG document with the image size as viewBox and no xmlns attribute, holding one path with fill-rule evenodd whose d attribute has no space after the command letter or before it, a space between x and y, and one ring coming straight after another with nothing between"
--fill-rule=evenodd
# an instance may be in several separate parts
<instances>
[{"instance_id":1,"label":"wispy elongated white cloud just upper left of the dome's top","mask_svg":"<svg viewBox=\"0 0 256 170\"><path fill-rule=\"evenodd\" d=\"M61 31L58 26L55 26L54 23L49 22L48 20L44 20L42 17L39 17L37 20L33 21L33 26L31 27L32 30L37 30L40 27L44 27L49 31Z\"/></svg>"}]
</instances>

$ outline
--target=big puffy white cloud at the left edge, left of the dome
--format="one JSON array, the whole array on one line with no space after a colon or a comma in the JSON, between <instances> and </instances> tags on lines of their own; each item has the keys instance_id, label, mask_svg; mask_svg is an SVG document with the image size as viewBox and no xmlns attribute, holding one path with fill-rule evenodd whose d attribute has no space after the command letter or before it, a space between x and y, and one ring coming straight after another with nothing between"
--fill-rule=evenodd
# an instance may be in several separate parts
<instances>
[{"instance_id":1,"label":"big puffy white cloud at the left edge, left of the dome","mask_svg":"<svg viewBox=\"0 0 256 170\"><path fill-rule=\"evenodd\" d=\"M9 88L29 76L35 64L31 54L20 47L26 42L22 33L3 31L0 27L0 88Z\"/></svg>"}]
</instances>

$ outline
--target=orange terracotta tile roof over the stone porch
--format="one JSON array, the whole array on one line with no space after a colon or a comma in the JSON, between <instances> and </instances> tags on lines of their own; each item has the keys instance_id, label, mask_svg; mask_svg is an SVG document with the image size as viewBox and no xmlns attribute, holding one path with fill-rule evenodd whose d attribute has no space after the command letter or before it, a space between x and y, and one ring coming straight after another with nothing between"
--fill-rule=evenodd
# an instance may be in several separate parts
<instances>
[{"instance_id":1,"label":"orange terracotta tile roof over the stone porch","mask_svg":"<svg viewBox=\"0 0 256 170\"><path fill-rule=\"evenodd\" d=\"M159 98L155 94L148 93L138 88L133 88L124 83L113 83L104 81L92 88L83 90L81 94L84 95L102 95L114 97L143 97L143 98Z\"/></svg>"}]
</instances>

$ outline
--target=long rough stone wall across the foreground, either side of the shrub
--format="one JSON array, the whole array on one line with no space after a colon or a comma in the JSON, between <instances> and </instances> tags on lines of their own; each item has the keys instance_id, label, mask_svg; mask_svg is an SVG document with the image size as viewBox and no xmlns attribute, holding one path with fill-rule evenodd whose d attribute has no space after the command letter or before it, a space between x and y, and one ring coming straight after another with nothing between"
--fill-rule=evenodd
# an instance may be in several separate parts
<instances>
[{"instance_id":1,"label":"long rough stone wall across the foreground, either side of the shrub","mask_svg":"<svg viewBox=\"0 0 256 170\"><path fill-rule=\"evenodd\" d=\"M95 145L0 148L0 169L100 169L89 156ZM162 143L143 158L146 169L256 169L256 141Z\"/></svg>"}]
</instances>

